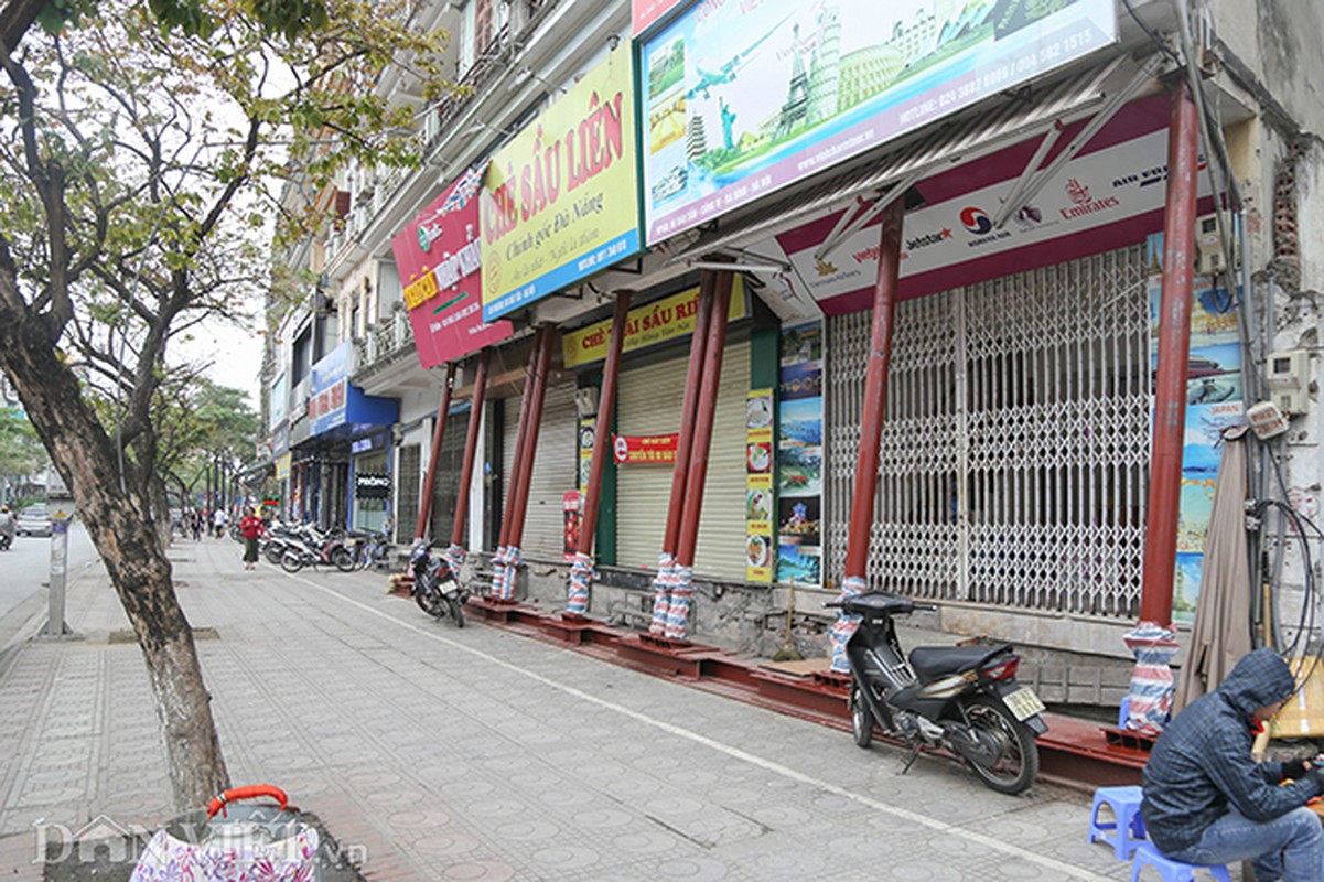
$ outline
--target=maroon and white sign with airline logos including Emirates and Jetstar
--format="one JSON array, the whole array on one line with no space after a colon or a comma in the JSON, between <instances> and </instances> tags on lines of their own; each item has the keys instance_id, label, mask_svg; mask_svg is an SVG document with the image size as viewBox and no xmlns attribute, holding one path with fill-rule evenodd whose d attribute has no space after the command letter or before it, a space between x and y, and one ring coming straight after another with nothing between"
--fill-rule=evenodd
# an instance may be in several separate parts
<instances>
[{"instance_id":1,"label":"maroon and white sign with airline logos including Emirates and Jetstar","mask_svg":"<svg viewBox=\"0 0 1324 882\"><path fill-rule=\"evenodd\" d=\"M1005 166L996 184L907 213L900 297L1144 241L1162 226L1166 152L1168 132L1157 130L1076 156L1002 229L993 229L993 215L1016 180L1019 167L1014 163ZM1207 196L1207 175L1201 173L1198 181L1200 195ZM776 237L810 297L829 315L867 309L878 278L876 222L843 238L826 258L814 256L839 217L829 215Z\"/></svg>"}]
</instances>

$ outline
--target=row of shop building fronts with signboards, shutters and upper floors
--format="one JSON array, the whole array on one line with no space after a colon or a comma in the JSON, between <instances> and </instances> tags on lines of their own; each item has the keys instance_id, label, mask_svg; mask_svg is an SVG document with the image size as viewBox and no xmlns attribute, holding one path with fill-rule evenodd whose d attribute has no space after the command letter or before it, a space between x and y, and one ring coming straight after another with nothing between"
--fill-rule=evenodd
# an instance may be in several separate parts
<instances>
[{"instance_id":1,"label":"row of shop building fronts with signboards, shutters and upper floors","mask_svg":"<svg viewBox=\"0 0 1324 882\"><path fill-rule=\"evenodd\" d=\"M585 450L609 418L618 456L591 612L641 620L686 400L686 317L726 261L737 285L694 634L757 648L794 585L812 641L825 620L809 605L835 596L849 544L880 205L904 197L869 581L939 604L949 630L1125 658L1121 634L1153 591L1168 135L1174 83L1194 77L1198 253L1172 550L1173 617L1189 624L1222 428L1280 403L1290 430L1255 442L1251 497L1319 510L1324 229L1304 207L1324 180L1324 62L1294 46L1324 33L1324 12L1178 5L933 3L883 21L847 0L418 4L420 26L457 34L467 89L426 105L406 75L384 74L379 87L417 107L422 163L350 170L316 195L340 222L282 258L319 279L267 355L286 513L408 543L436 458L429 538L495 551L535 328L555 326L520 591L564 597ZM601 413L622 291L618 400ZM477 466L461 486L481 352ZM1299 543L1266 532L1291 630L1309 579Z\"/></svg>"}]
</instances>

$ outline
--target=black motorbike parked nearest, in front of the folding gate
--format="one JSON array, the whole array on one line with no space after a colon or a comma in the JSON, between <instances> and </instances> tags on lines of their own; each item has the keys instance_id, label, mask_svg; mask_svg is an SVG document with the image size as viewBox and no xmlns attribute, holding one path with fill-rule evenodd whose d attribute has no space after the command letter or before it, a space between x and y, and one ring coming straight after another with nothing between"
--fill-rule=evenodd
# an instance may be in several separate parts
<instances>
[{"instance_id":1,"label":"black motorbike parked nearest, in front of the folding gate","mask_svg":"<svg viewBox=\"0 0 1324 882\"><path fill-rule=\"evenodd\" d=\"M918 646L910 660L896 640L894 616L936 609L886 591L825 604L861 616L846 644L850 722L855 743L869 747L874 726L911 747L902 772L924 747L960 756L1000 793L1019 793L1039 772L1035 736L1049 731L1043 702L1016 681L1021 663L1010 644Z\"/></svg>"}]
</instances>

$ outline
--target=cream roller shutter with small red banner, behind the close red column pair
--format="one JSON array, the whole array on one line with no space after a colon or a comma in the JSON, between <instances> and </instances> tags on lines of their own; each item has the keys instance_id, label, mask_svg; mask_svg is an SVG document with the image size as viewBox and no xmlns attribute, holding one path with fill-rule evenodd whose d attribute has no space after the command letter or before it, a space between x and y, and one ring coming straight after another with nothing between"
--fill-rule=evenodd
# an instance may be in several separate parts
<instances>
[{"instance_id":1,"label":"cream roller shutter with small red banner, behind the close red column pair","mask_svg":"<svg viewBox=\"0 0 1324 882\"><path fill-rule=\"evenodd\" d=\"M620 434L681 430L688 350L674 358L621 371L616 421ZM700 576L744 581L745 399L749 392L749 342L730 343L722 360L707 486L699 516L694 571ZM616 559L622 567L653 569L671 497L667 466L622 466L617 471Z\"/></svg>"}]
</instances>

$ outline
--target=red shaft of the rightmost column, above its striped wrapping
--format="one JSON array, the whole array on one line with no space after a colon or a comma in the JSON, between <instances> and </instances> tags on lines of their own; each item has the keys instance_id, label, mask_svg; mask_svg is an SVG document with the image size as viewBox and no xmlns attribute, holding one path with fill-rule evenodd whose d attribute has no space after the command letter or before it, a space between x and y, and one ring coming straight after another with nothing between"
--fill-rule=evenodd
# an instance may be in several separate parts
<instances>
[{"instance_id":1,"label":"red shaft of the rightmost column, above its striped wrapping","mask_svg":"<svg viewBox=\"0 0 1324 882\"><path fill-rule=\"evenodd\" d=\"M1172 95L1168 126L1168 203L1164 209L1158 369L1155 375L1153 449L1145 523L1140 621L1172 624L1172 585L1181 501L1181 448L1186 429L1186 367L1196 260L1196 162L1200 126L1185 81Z\"/></svg>"}]
</instances>

